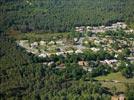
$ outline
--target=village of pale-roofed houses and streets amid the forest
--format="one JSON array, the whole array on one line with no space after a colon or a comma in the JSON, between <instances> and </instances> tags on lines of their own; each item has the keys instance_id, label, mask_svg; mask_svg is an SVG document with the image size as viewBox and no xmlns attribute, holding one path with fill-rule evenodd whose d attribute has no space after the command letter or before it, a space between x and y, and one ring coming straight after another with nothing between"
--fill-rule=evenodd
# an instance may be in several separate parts
<instances>
[{"instance_id":1,"label":"village of pale-roofed houses and streets amid the forest","mask_svg":"<svg viewBox=\"0 0 134 100\"><path fill-rule=\"evenodd\" d=\"M71 40L65 38L51 41L40 40L34 42L30 42L29 40L19 40L17 43L19 46L25 48L27 52L37 55L40 58L51 57L51 55L66 56L67 54L82 54L87 50L90 50L94 53L104 50L110 54L113 54L114 58L100 60L99 62L109 65L111 68L116 70L120 65L118 56L125 51L125 47L127 47L127 50L130 51L130 54L129 56L126 55L124 58L127 59L130 63L134 62L134 37L113 38L113 36L105 34L108 31L116 32L118 30L122 30L125 34L134 34L134 30L128 29L125 23L117 22L111 26L76 27L75 32L86 34L79 37L73 37ZM44 62L43 64L52 65L53 63L55 62ZM84 70L90 72L92 71L92 68L90 67L90 61L80 60L77 61L77 63ZM65 66L63 63L60 63L57 65L57 68L65 68Z\"/></svg>"}]
</instances>

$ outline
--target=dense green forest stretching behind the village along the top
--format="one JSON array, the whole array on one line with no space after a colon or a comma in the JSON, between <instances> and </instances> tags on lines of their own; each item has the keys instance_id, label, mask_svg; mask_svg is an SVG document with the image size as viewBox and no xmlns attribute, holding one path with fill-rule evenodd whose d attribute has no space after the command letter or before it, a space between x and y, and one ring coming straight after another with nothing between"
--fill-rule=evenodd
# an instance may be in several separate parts
<instances>
[{"instance_id":1,"label":"dense green forest stretching behind the village along the top","mask_svg":"<svg viewBox=\"0 0 134 100\"><path fill-rule=\"evenodd\" d=\"M133 27L133 0L1 0L1 30L65 32L124 21Z\"/></svg>"}]
</instances>

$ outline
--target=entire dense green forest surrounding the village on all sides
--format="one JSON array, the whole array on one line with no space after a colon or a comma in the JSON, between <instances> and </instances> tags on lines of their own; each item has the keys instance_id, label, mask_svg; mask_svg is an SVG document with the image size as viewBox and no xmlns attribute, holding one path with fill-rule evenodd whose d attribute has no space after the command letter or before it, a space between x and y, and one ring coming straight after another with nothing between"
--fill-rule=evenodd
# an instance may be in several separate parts
<instances>
[{"instance_id":1,"label":"entire dense green forest surrounding the village on all sides","mask_svg":"<svg viewBox=\"0 0 134 100\"><path fill-rule=\"evenodd\" d=\"M102 50L39 58L26 52L7 33L74 32L76 26L111 25L118 21L134 28L133 8L133 0L0 0L0 100L111 100L115 88L109 90L95 77L115 72L99 63L99 60L113 59L114 55ZM134 36L111 33L105 35ZM132 79L134 64L128 63L124 55L129 55L128 49L117 58L122 61L118 72ZM83 70L77 60L91 61L95 70L92 73ZM43 64L51 61L64 63L66 68L56 69L56 63ZM125 86L123 94L127 100L133 100L134 85Z\"/></svg>"}]
</instances>

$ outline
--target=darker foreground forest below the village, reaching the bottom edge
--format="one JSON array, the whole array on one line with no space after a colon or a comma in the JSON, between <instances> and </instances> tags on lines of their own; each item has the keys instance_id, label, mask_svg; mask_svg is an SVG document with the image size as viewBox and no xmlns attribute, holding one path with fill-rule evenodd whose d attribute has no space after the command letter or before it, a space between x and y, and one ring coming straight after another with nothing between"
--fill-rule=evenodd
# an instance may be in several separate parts
<instances>
[{"instance_id":1,"label":"darker foreground forest below the village, reaching the bottom edge","mask_svg":"<svg viewBox=\"0 0 134 100\"><path fill-rule=\"evenodd\" d=\"M97 57L97 58L96 58ZM1 100L110 100L115 94L102 86L94 77L107 75L113 70L109 66L92 63L96 67L92 73L83 70L77 59L112 58L108 52L93 54L90 51L83 55L51 56L38 58L27 53L11 36L0 34L0 98ZM54 65L46 66L45 61L65 63L65 69L56 69ZM124 65L123 65L124 66ZM132 78L133 65L121 66L120 70L127 78ZM106 68L108 71L104 70ZM134 90L132 84L126 84L125 95L132 100Z\"/></svg>"}]
</instances>

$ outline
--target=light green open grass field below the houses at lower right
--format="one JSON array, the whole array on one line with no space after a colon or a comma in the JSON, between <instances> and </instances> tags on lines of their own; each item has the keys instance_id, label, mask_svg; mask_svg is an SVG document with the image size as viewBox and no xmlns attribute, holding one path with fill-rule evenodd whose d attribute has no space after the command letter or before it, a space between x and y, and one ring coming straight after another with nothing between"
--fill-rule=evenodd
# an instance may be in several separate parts
<instances>
[{"instance_id":1,"label":"light green open grass field below the houses at lower right","mask_svg":"<svg viewBox=\"0 0 134 100\"><path fill-rule=\"evenodd\" d=\"M95 78L96 80L100 81L102 83L103 87L107 87L112 91L113 87L116 87L116 92L124 92L127 87L126 84L134 84L134 78L126 79L122 76L120 72L118 73L111 73L107 76L99 76ZM109 82L103 82L103 81L109 81ZM118 82L111 82L112 80L118 81Z\"/></svg>"}]
</instances>

